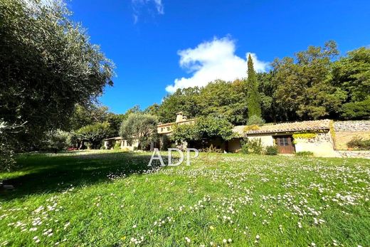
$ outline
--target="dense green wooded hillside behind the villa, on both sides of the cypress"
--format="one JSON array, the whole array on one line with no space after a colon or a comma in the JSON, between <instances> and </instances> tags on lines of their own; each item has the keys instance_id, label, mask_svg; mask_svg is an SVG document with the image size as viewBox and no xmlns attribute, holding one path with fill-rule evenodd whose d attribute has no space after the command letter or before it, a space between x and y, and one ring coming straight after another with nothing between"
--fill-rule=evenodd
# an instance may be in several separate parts
<instances>
[{"instance_id":1,"label":"dense green wooded hillside behind the villa, on both sides of the cypress","mask_svg":"<svg viewBox=\"0 0 370 247\"><path fill-rule=\"evenodd\" d=\"M247 77L247 68L245 68ZM257 73L262 117L266 122L364 119L370 115L370 49L339 56L337 43L310 46L294 57L275 59L268 73ZM234 125L248 118L247 79L216 80L204 88L179 89L147 112L173 122L176 112L188 117L226 117Z\"/></svg>"}]
</instances>

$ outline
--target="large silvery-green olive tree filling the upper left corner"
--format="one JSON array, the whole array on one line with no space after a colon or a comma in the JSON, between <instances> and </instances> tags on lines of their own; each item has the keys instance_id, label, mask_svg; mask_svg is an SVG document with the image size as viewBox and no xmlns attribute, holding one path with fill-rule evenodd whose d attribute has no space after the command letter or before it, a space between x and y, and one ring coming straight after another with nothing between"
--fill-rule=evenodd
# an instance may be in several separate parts
<instances>
[{"instance_id":1,"label":"large silvery-green olive tree filling the upper left corner","mask_svg":"<svg viewBox=\"0 0 370 247\"><path fill-rule=\"evenodd\" d=\"M19 142L65 128L76 103L112 85L112 63L69 14L63 1L0 0L0 116L26 123Z\"/></svg>"}]
</instances>

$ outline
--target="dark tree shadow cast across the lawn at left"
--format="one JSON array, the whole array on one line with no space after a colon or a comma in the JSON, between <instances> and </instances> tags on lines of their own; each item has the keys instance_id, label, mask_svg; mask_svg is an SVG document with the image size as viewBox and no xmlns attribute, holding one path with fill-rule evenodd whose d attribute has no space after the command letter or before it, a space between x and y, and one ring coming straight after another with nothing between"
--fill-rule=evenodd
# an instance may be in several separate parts
<instances>
[{"instance_id":1,"label":"dark tree shadow cast across the lawn at left","mask_svg":"<svg viewBox=\"0 0 370 247\"><path fill-rule=\"evenodd\" d=\"M21 175L4 181L14 190L0 191L2 199L9 201L32 194L63 191L73 186L91 185L111 181L123 174L142 174L151 167L151 155L124 152L93 154L22 154L17 162ZM152 167L153 168L153 167ZM24 174L22 174L24 173Z\"/></svg>"}]
</instances>

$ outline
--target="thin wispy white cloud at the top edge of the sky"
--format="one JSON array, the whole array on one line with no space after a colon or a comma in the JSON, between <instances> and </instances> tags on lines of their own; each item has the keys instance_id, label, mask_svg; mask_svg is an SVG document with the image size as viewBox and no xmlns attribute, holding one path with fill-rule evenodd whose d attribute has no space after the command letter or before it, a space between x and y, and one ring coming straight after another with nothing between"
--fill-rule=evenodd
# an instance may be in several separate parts
<instances>
[{"instance_id":1,"label":"thin wispy white cloud at the top edge of the sky","mask_svg":"<svg viewBox=\"0 0 370 247\"><path fill-rule=\"evenodd\" d=\"M162 0L131 0L131 3L132 10L134 11L134 14L132 15L134 23L139 21L139 16L142 14L142 12L146 12L145 14L153 14L155 11L156 14L164 14Z\"/></svg>"}]
</instances>

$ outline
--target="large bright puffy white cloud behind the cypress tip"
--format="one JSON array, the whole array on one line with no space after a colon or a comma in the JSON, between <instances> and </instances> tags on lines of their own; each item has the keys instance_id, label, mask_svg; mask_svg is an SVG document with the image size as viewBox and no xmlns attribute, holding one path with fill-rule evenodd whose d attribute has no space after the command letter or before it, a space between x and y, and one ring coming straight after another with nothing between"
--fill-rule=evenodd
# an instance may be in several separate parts
<instances>
[{"instance_id":1,"label":"large bright puffy white cloud behind the cypress tip","mask_svg":"<svg viewBox=\"0 0 370 247\"><path fill-rule=\"evenodd\" d=\"M205 86L213 80L236 80L245 78L247 58L236 56L235 41L229 37L213 38L212 41L200 43L196 48L179 51L180 66L191 73L189 78L176 78L166 91L174 93L178 88ZM255 53L250 53L254 68L258 72L268 69L269 63L259 61Z\"/></svg>"}]
</instances>

